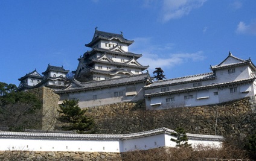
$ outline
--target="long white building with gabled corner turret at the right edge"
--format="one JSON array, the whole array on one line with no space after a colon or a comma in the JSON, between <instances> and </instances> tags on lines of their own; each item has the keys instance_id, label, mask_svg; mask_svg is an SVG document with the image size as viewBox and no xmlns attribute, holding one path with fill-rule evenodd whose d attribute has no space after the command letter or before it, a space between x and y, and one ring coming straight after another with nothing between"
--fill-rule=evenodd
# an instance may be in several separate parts
<instances>
[{"instance_id":1,"label":"long white building with gabled corner turret at the right edge","mask_svg":"<svg viewBox=\"0 0 256 161\"><path fill-rule=\"evenodd\" d=\"M256 67L250 59L242 60L229 53L222 63L211 66L211 70L145 86L147 109L219 104L256 95Z\"/></svg>"}]
</instances>

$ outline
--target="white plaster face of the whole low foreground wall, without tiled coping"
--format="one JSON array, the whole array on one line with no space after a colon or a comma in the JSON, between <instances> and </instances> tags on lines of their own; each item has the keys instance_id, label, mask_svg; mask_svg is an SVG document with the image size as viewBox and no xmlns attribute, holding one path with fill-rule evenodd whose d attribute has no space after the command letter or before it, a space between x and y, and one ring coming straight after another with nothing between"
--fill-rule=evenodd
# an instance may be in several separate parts
<instances>
[{"instance_id":1,"label":"white plaster face of the whole low foreground wall, without tiled coping","mask_svg":"<svg viewBox=\"0 0 256 161\"><path fill-rule=\"evenodd\" d=\"M171 141L173 136L168 133L159 133L152 136L131 137L130 139L29 139L0 137L0 151L87 151L87 152L114 152L149 150L159 147L176 147ZM175 138L174 138L175 139ZM192 147L204 145L220 148L221 141L189 139Z\"/></svg>"}]
</instances>

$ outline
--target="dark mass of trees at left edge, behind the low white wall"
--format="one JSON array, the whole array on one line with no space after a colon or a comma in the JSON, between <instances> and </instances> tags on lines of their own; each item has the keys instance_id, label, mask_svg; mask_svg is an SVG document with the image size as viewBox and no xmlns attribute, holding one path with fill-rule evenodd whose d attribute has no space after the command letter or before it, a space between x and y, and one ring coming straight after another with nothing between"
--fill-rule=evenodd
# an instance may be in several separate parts
<instances>
[{"instance_id":1,"label":"dark mass of trees at left edge, behind the low white wall","mask_svg":"<svg viewBox=\"0 0 256 161\"><path fill-rule=\"evenodd\" d=\"M0 126L9 131L40 128L42 101L33 93L16 89L14 84L0 83Z\"/></svg>"}]
</instances>

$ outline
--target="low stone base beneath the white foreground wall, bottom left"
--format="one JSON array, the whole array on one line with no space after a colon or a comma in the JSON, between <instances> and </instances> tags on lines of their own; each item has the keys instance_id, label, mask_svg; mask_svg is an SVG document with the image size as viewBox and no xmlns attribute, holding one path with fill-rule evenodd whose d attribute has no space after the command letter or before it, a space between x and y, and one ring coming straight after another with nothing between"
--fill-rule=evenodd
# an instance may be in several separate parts
<instances>
[{"instance_id":1,"label":"low stone base beneath the white foreground wall, bottom left","mask_svg":"<svg viewBox=\"0 0 256 161\"><path fill-rule=\"evenodd\" d=\"M121 160L120 153L74 151L0 151L0 160Z\"/></svg>"}]
</instances>

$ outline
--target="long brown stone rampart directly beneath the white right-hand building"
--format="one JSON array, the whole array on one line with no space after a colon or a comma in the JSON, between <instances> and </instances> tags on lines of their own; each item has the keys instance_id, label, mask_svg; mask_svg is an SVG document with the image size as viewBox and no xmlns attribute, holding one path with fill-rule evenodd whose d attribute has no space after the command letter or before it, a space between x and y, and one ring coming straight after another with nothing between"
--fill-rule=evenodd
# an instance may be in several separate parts
<instances>
[{"instance_id":1,"label":"long brown stone rampart directly beneath the white right-hand building","mask_svg":"<svg viewBox=\"0 0 256 161\"><path fill-rule=\"evenodd\" d=\"M256 130L255 97L213 106L146 110L144 101L89 107L98 133L122 134L185 127L187 133L242 136ZM217 124L216 124L217 120Z\"/></svg>"}]
</instances>

